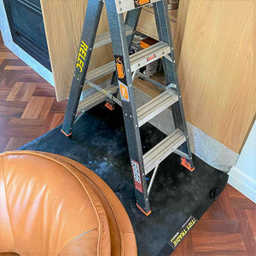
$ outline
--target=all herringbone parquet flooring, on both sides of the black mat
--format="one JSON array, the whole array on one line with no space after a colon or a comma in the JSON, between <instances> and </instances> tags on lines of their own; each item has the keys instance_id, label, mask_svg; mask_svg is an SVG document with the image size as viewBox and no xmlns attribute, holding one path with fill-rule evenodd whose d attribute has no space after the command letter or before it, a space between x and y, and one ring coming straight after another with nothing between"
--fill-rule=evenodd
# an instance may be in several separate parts
<instances>
[{"instance_id":1,"label":"all herringbone parquet flooring, on both sides of the black mat","mask_svg":"<svg viewBox=\"0 0 256 256\"><path fill-rule=\"evenodd\" d=\"M3 44L0 34L0 152L60 125L67 102ZM173 255L256 256L256 205L227 185Z\"/></svg>"}]
</instances>

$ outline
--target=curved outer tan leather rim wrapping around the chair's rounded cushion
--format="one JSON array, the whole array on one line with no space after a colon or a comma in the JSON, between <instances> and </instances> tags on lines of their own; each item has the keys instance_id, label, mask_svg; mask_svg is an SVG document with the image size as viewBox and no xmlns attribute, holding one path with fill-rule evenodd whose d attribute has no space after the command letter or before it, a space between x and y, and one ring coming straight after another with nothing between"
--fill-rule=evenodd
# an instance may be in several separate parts
<instances>
[{"instance_id":1,"label":"curved outer tan leather rim wrapping around the chair's rounded cushion","mask_svg":"<svg viewBox=\"0 0 256 256\"><path fill-rule=\"evenodd\" d=\"M80 172L80 178L84 177L95 190L96 195L102 201L102 205L107 213L108 224L111 236L111 255L137 255L137 243L130 218L125 208L119 201L113 190L108 187L102 178L91 172L79 162L71 160L59 154L41 153L53 157L65 164L73 166Z\"/></svg>"}]
</instances>

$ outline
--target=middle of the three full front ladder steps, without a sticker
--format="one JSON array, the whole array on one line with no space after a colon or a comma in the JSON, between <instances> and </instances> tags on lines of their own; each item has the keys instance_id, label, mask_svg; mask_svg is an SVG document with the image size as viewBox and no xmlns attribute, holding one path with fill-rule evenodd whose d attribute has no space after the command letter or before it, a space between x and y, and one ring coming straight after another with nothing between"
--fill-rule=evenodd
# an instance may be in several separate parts
<instances>
[{"instance_id":1,"label":"middle of the three full front ladder steps, without a sticker","mask_svg":"<svg viewBox=\"0 0 256 256\"><path fill-rule=\"evenodd\" d=\"M169 89L155 97L150 102L144 104L137 109L138 125L141 127L149 120L153 119L159 113L162 113L166 108L169 108L178 101L178 96L175 90Z\"/></svg>"}]
</instances>

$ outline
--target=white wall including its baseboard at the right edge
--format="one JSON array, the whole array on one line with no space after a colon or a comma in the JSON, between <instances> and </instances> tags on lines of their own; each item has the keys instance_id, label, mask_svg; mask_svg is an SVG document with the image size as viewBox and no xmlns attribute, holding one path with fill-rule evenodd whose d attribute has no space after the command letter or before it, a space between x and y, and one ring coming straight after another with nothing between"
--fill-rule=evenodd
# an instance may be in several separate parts
<instances>
[{"instance_id":1,"label":"white wall including its baseboard at the right edge","mask_svg":"<svg viewBox=\"0 0 256 256\"><path fill-rule=\"evenodd\" d=\"M229 176L230 185L256 203L256 122Z\"/></svg>"}]
</instances>

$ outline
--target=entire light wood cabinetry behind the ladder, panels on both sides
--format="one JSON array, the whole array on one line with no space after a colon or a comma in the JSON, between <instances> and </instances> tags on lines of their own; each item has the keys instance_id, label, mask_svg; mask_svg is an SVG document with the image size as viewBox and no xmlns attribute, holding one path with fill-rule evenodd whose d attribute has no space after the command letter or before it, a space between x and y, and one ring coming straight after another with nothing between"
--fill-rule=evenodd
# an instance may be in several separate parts
<instances>
[{"instance_id":1,"label":"entire light wood cabinetry behind the ladder, panels on both sides","mask_svg":"<svg viewBox=\"0 0 256 256\"><path fill-rule=\"evenodd\" d=\"M41 0L58 100L67 98L86 9L84 0ZM255 0L180 0L170 11L186 118L241 151L256 112ZM103 12L99 33L108 31ZM157 38L154 13L143 8L137 30ZM113 60L96 49L91 68Z\"/></svg>"}]
</instances>

